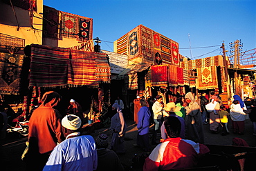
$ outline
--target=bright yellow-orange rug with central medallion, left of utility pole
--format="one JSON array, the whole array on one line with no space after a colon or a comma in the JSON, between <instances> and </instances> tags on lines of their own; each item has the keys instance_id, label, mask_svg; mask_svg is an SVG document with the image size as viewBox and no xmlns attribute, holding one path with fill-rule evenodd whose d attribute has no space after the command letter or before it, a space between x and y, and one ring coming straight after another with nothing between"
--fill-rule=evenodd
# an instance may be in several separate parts
<instances>
[{"instance_id":1,"label":"bright yellow-orange rug with central medallion, left of utility pole","mask_svg":"<svg viewBox=\"0 0 256 171\"><path fill-rule=\"evenodd\" d=\"M196 70L199 89L204 90L218 87L216 66L197 68Z\"/></svg>"}]
</instances>

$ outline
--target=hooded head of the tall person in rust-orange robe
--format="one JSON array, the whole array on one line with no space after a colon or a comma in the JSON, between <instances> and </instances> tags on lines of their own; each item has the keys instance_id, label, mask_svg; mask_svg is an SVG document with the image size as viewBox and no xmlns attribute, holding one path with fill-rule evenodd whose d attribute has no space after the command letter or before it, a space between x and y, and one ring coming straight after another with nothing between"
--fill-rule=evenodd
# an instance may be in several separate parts
<instances>
[{"instance_id":1,"label":"hooded head of the tall person in rust-orange robe","mask_svg":"<svg viewBox=\"0 0 256 171\"><path fill-rule=\"evenodd\" d=\"M42 105L54 107L62 100L62 96L54 91L44 93L42 97Z\"/></svg>"}]
</instances>

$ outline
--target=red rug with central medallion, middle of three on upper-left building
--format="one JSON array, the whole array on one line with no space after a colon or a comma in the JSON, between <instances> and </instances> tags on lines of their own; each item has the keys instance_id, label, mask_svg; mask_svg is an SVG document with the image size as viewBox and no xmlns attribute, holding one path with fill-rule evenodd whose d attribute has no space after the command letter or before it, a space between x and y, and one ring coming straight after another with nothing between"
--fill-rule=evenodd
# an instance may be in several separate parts
<instances>
[{"instance_id":1,"label":"red rug with central medallion, middle of three on upper-left building","mask_svg":"<svg viewBox=\"0 0 256 171\"><path fill-rule=\"evenodd\" d=\"M62 12L62 36L78 37L78 18L75 14Z\"/></svg>"}]
</instances>

